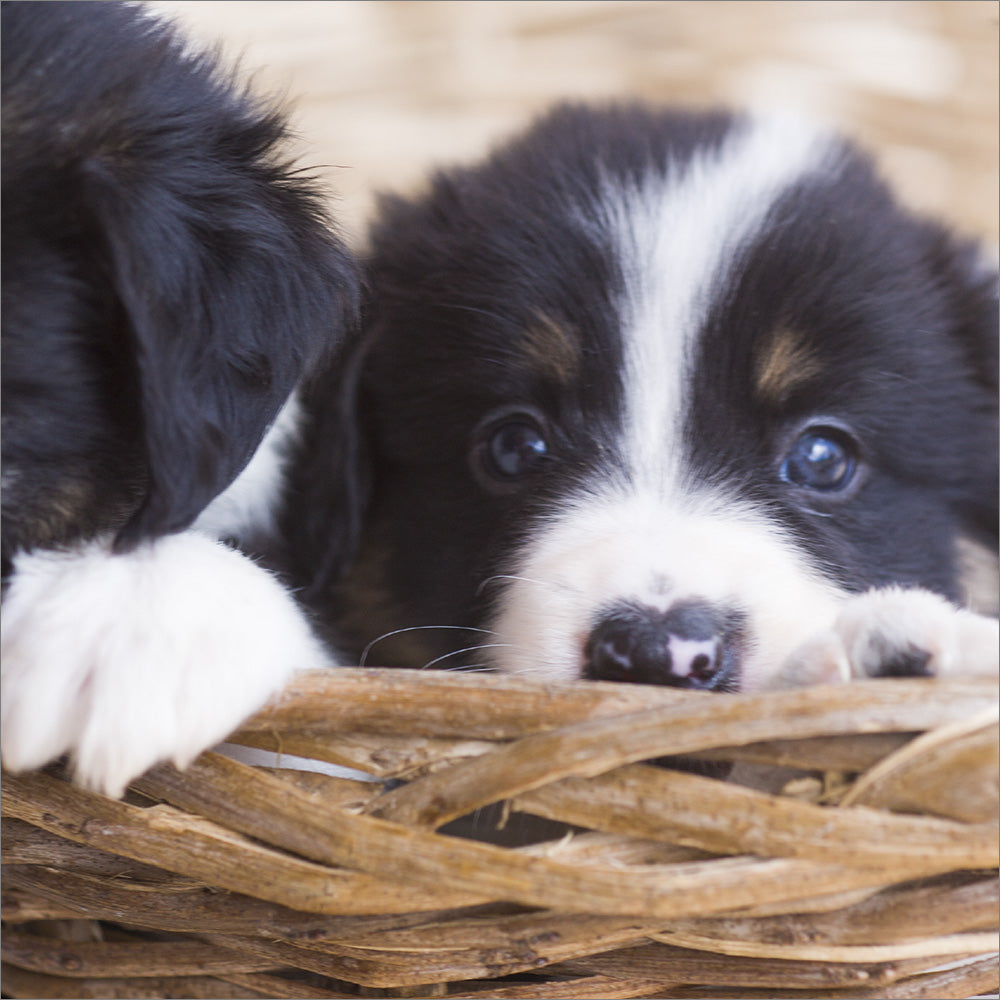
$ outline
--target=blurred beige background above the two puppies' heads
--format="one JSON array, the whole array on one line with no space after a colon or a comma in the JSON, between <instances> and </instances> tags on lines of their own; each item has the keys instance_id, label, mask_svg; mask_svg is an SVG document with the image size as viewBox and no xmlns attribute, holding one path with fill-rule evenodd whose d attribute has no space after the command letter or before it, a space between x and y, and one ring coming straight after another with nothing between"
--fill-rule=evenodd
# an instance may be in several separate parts
<instances>
[{"instance_id":1,"label":"blurred beige background above the two puppies' heads","mask_svg":"<svg viewBox=\"0 0 1000 1000\"><path fill-rule=\"evenodd\" d=\"M804 110L912 205L996 246L994 0L154 0L295 108L360 238L373 192L471 159L560 98Z\"/></svg>"}]
</instances>

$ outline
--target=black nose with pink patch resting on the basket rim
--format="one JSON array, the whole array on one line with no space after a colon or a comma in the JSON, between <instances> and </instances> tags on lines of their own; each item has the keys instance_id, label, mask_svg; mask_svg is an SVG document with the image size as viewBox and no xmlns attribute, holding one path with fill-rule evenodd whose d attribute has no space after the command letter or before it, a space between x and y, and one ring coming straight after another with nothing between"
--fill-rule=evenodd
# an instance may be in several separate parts
<instances>
[{"instance_id":1,"label":"black nose with pink patch resting on the basket rim","mask_svg":"<svg viewBox=\"0 0 1000 1000\"><path fill-rule=\"evenodd\" d=\"M717 690L734 686L738 618L706 601L666 611L622 602L594 626L585 649L589 680Z\"/></svg>"}]
</instances>

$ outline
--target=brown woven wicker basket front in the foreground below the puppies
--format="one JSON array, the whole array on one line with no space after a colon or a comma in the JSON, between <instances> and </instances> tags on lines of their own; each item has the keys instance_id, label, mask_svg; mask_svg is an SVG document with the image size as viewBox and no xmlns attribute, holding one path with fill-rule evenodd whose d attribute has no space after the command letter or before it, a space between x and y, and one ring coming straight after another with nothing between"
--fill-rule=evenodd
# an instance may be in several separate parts
<instances>
[{"instance_id":1,"label":"brown woven wicker basket front in the foreground below the puppies","mask_svg":"<svg viewBox=\"0 0 1000 1000\"><path fill-rule=\"evenodd\" d=\"M233 739L375 780L212 753L123 802L5 776L6 995L996 989L995 680L720 696L345 669ZM641 763L673 755L781 791Z\"/></svg>"}]
</instances>

